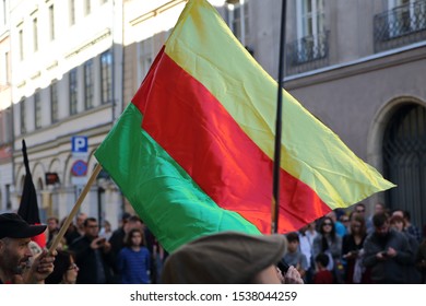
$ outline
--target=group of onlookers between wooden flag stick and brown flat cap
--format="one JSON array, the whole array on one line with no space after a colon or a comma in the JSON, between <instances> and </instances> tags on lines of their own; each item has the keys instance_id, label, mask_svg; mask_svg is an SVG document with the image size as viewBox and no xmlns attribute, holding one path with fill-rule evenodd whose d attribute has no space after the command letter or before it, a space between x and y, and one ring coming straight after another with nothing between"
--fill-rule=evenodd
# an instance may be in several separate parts
<instances>
[{"instance_id":1,"label":"group of onlookers between wooden flag stick and brown flat cap","mask_svg":"<svg viewBox=\"0 0 426 306\"><path fill-rule=\"evenodd\" d=\"M48 247L59 228L60 224L51 228L54 234L47 242ZM158 283L159 264L165 258L164 250L142 220L129 213L122 215L121 224L115 231L108 221L100 227L95 217L79 213L58 249L71 256L72 267L78 271L74 280L78 284ZM67 262L70 263L69 256ZM63 271L62 275L64 273L69 272Z\"/></svg>"}]
</instances>

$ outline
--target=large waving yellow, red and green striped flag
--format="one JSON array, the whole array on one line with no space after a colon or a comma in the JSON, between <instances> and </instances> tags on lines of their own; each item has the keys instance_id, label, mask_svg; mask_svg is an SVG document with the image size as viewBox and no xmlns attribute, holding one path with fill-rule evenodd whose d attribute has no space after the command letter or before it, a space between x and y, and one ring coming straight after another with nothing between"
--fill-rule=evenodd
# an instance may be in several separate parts
<instances>
[{"instance_id":1,"label":"large waving yellow, red and green striped flag","mask_svg":"<svg viewBox=\"0 0 426 306\"><path fill-rule=\"evenodd\" d=\"M190 0L95 155L159 243L271 231L277 83ZM283 91L279 233L393 185Z\"/></svg>"}]
</instances>

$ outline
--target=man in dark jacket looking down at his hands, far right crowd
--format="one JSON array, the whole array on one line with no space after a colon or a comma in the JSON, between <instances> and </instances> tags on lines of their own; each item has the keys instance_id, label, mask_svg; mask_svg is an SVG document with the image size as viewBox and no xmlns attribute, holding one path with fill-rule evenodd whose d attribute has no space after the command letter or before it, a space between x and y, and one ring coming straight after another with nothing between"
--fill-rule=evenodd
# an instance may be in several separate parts
<instances>
[{"instance_id":1,"label":"man in dark jacket looking down at his hands, far right crowd","mask_svg":"<svg viewBox=\"0 0 426 306\"><path fill-rule=\"evenodd\" d=\"M404 268L410 264L412 254L405 235L391 228L386 213L372 216L375 231L364 243L365 267L370 268L374 283L404 283Z\"/></svg>"}]
</instances>

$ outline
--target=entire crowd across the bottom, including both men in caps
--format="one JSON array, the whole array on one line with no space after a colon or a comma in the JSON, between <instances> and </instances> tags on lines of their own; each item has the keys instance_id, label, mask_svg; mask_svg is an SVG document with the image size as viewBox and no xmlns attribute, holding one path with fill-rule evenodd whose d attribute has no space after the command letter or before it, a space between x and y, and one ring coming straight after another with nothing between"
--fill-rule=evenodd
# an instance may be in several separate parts
<instances>
[{"instance_id":1,"label":"entire crowd across the bottom, including both men in caps","mask_svg":"<svg viewBox=\"0 0 426 306\"><path fill-rule=\"evenodd\" d=\"M217 233L170 256L129 213L115 231L79 213L54 254L31 240L45 232L48 249L64 221L28 225L1 214L0 283L426 283L426 228L380 203L369 216L358 203L286 235Z\"/></svg>"}]
</instances>

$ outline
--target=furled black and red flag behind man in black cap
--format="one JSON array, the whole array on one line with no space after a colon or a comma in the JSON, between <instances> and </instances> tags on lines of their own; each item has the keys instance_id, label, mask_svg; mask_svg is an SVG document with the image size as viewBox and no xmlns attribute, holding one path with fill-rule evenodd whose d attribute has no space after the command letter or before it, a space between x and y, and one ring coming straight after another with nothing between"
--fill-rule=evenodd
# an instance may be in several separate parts
<instances>
[{"instance_id":1,"label":"furled black and red flag behind man in black cap","mask_svg":"<svg viewBox=\"0 0 426 306\"><path fill-rule=\"evenodd\" d=\"M29 170L28 155L26 153L25 140L22 140L22 155L24 157L25 180L24 190L22 191L20 208L17 214L22 216L28 224L40 224L38 213L37 193L33 183L33 176ZM46 246L45 233L32 237L42 248Z\"/></svg>"}]
</instances>

